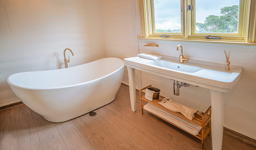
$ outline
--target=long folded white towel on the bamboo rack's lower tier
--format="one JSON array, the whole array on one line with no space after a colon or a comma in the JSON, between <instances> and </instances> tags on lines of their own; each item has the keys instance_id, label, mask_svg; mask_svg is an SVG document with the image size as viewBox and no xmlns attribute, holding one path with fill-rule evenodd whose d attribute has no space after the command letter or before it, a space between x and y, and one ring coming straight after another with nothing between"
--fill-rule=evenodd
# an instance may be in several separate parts
<instances>
[{"instance_id":1,"label":"long folded white towel on the bamboo rack's lower tier","mask_svg":"<svg viewBox=\"0 0 256 150\"><path fill-rule=\"evenodd\" d=\"M181 127L182 129L188 131L189 133L193 135L198 135L199 131L202 129L202 127L193 124L192 122L189 122L188 120L182 119L179 116L176 116L162 108L159 108L151 103L148 103L144 105L144 109L172 122L173 124L177 125L178 127Z\"/></svg>"}]
</instances>

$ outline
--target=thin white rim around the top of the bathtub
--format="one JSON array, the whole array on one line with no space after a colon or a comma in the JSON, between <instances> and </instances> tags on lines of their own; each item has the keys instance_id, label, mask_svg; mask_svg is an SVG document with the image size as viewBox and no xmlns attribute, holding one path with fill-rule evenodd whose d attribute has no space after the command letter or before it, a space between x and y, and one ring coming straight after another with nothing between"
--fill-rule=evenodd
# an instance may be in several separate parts
<instances>
[{"instance_id":1,"label":"thin white rim around the top of the bathtub","mask_svg":"<svg viewBox=\"0 0 256 150\"><path fill-rule=\"evenodd\" d=\"M74 87L74 86L79 86L79 85L83 85L83 84L87 84L87 83L90 83L90 82L94 82L94 81L97 81L97 80L100 80L104 77L107 77L107 76L110 76L112 74L114 74L115 72L119 71L120 69L122 69L124 67L124 62L122 59L120 58L116 58L116 57L107 57L107 58L101 58L101 59L108 59L108 58L114 58L114 59L119 59L122 61L122 65L116 69L115 71L107 74L107 75L104 75L100 78L97 78L97 79L94 79L94 80L90 80L90 81L87 81L87 82L82 82L82 83L78 83L78 84L73 84L73 85L67 85L67 86L60 86L60 87L52 87L52 88L30 88L30 87L24 87L24 86L20 86L20 85L16 85L14 84L13 82L10 81L10 77L12 75L15 75L15 74L18 74L18 73L15 73L15 74L12 74L10 75L8 78L7 78L7 83L12 85L12 86L15 86L15 87L19 87L19 88L23 88L23 89L28 89L28 90L50 90L50 89L62 89L62 88L69 88L69 87ZM98 59L98 60L101 60L101 59ZM98 60L94 60L94 61L98 61ZM94 62L92 61L92 62ZM91 62L88 62L88 63L91 63ZM87 63L85 63L87 64ZM81 65L84 65L84 64L81 64ZM77 66L81 66L81 65L77 65ZM77 67L77 66L73 66L73 67ZM72 68L72 67L69 67L69 68ZM61 69L67 69L67 68L61 68ZM54 70L59 70L59 69L54 69ZM52 70L42 70L42 71L52 71ZM27 72L19 72L19 73L29 73L29 72L42 72L42 71L27 71Z\"/></svg>"}]
</instances>

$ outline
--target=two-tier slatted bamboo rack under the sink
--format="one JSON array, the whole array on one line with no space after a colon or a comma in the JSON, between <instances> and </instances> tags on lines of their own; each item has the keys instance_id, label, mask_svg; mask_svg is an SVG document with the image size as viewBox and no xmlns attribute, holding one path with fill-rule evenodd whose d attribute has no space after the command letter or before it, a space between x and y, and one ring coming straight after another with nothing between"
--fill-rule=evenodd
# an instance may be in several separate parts
<instances>
[{"instance_id":1,"label":"two-tier slatted bamboo rack under the sink","mask_svg":"<svg viewBox=\"0 0 256 150\"><path fill-rule=\"evenodd\" d=\"M153 105L155 105L157 107L160 107L160 108L162 108L162 109L164 109L164 110L166 110L166 111L168 111L168 112L170 112L170 113L172 113L172 114L174 114L176 116L179 116L179 117L181 117L181 118L183 118L183 119L185 119L185 120L187 120L189 122L192 122L193 124L196 124L196 125L202 127L202 129L199 131L198 135L193 135L193 134L189 133L188 131L178 127L174 123L172 123L172 122L170 122L170 121L168 121L168 120L158 116L157 114L154 114L154 113L149 111L150 113L158 116L159 118L161 118L161 119L171 123L172 125L174 125L174 126L180 128L180 129L188 132L189 134L199 138L202 141L201 142L201 149L204 149L204 140L205 140L205 138L207 137L208 134L211 137L211 112L212 112L211 106L206 110L206 112L204 112L202 114L195 114L195 117L192 120L189 120L188 118L186 118L181 113L170 111L170 110L166 109L164 106L162 106L161 104L159 104L158 102L161 102L165 98L165 97L163 97L161 95L159 96L159 99L153 99L152 101L149 101L148 99L146 99L145 95L142 95L142 91L147 89L148 87L151 87L151 85L148 85L148 86L140 89L141 114L143 114L144 105L143 105L142 101L144 100L144 101L147 101L147 102L149 102L149 103L151 103L151 104L153 104ZM210 113L210 115L208 113Z\"/></svg>"}]
</instances>

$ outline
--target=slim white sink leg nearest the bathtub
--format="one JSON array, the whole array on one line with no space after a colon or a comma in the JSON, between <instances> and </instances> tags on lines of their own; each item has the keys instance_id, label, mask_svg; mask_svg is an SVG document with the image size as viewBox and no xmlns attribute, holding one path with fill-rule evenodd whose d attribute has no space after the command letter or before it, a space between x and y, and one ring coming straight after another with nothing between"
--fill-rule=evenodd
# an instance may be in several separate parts
<instances>
[{"instance_id":1,"label":"slim white sink leg nearest the bathtub","mask_svg":"<svg viewBox=\"0 0 256 150\"><path fill-rule=\"evenodd\" d=\"M136 111L136 87L135 87L135 69L127 67L128 76L129 76L129 90L130 90L130 99L132 111Z\"/></svg>"}]
</instances>

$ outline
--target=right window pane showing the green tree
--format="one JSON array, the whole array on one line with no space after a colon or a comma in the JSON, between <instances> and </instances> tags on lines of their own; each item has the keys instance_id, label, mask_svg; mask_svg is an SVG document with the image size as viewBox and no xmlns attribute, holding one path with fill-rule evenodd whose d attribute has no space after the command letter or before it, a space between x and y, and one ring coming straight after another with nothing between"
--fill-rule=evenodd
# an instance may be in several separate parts
<instances>
[{"instance_id":1,"label":"right window pane showing the green tree","mask_svg":"<svg viewBox=\"0 0 256 150\"><path fill-rule=\"evenodd\" d=\"M196 33L238 33L239 0L196 0Z\"/></svg>"}]
</instances>

